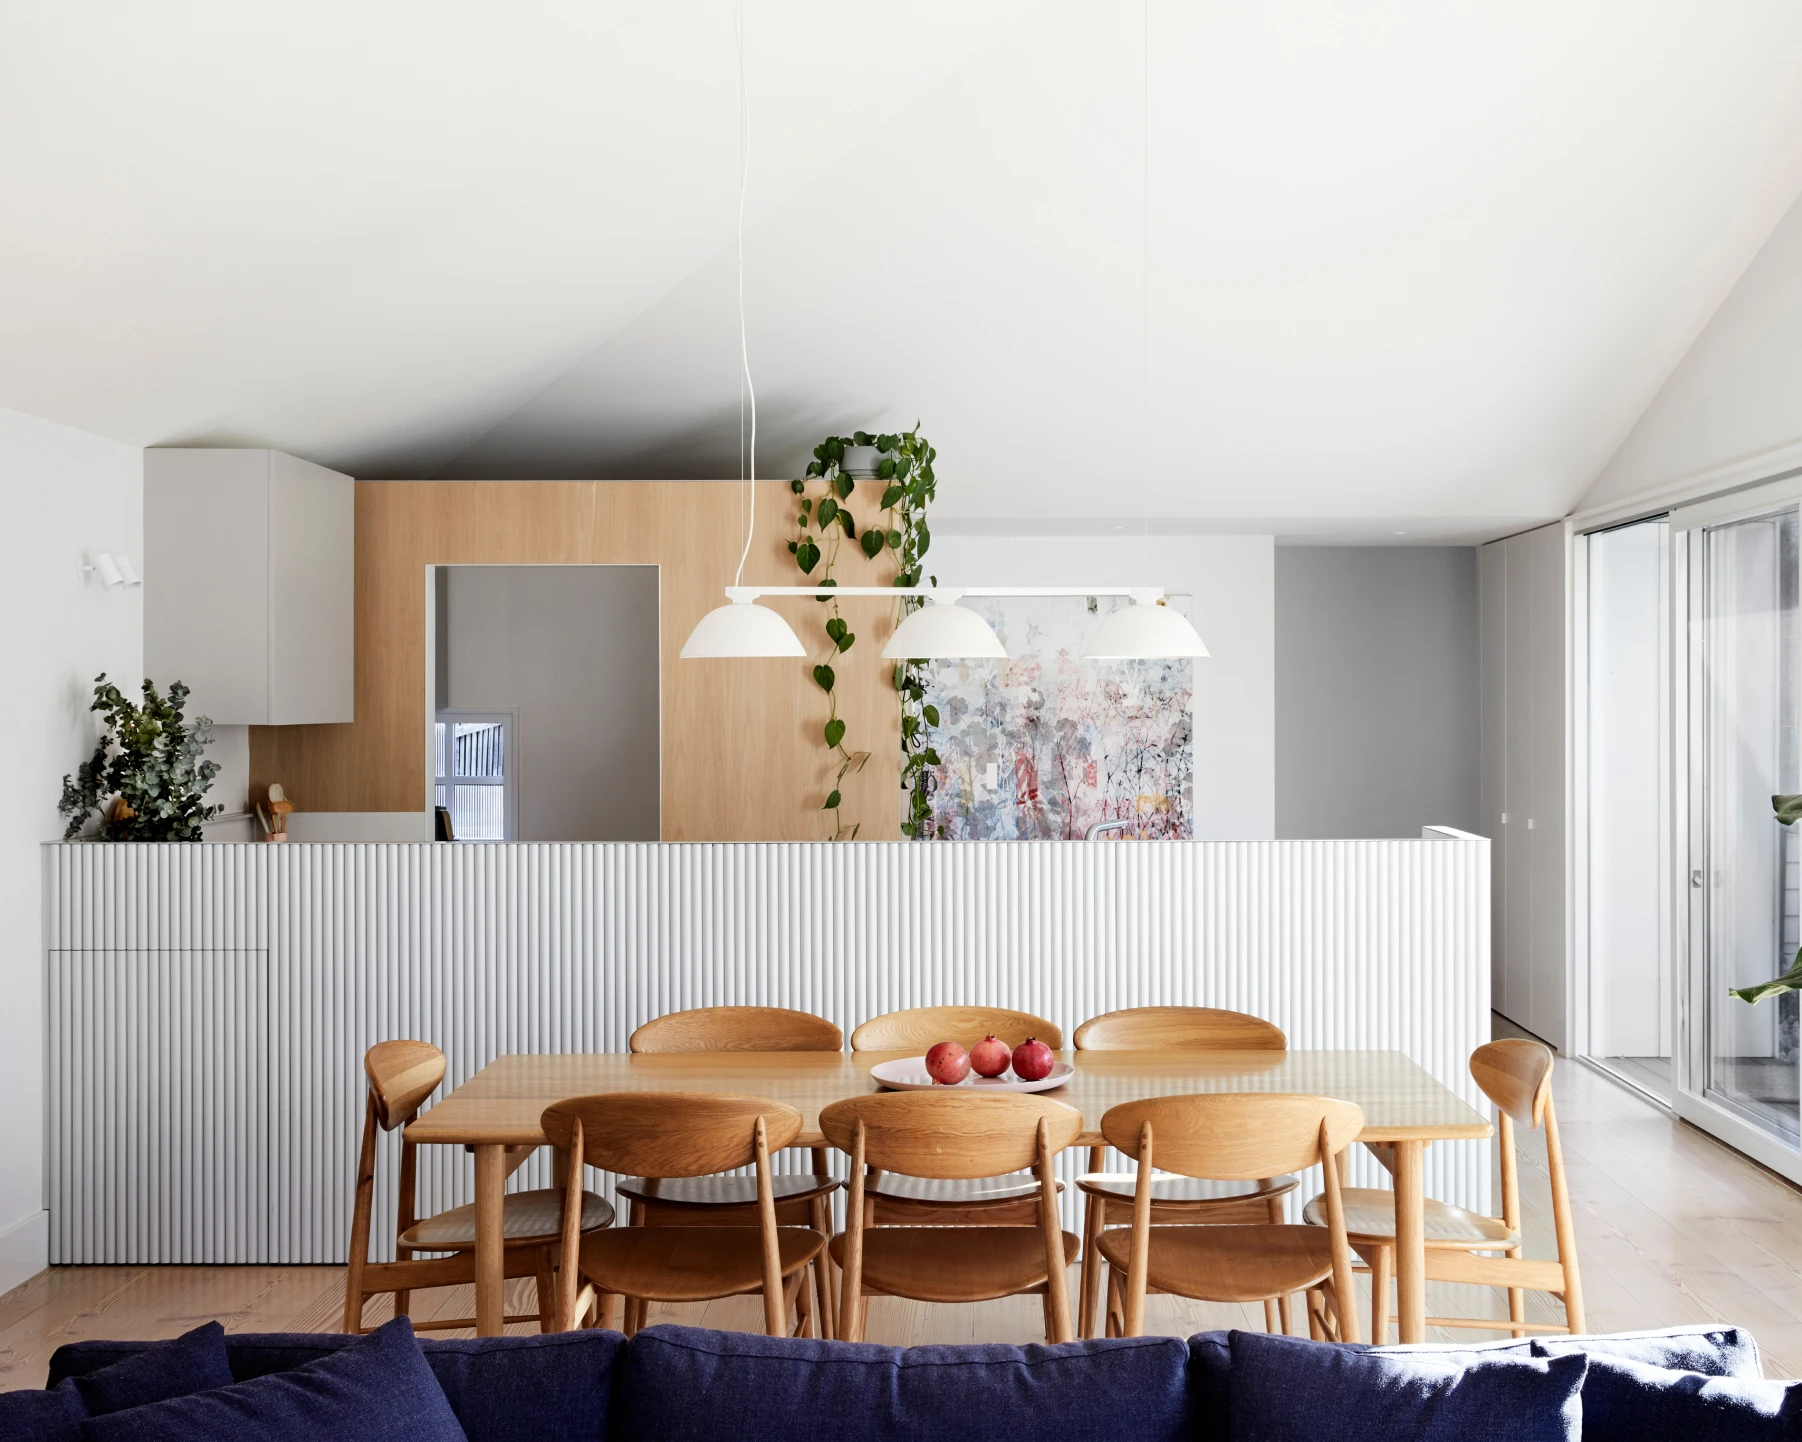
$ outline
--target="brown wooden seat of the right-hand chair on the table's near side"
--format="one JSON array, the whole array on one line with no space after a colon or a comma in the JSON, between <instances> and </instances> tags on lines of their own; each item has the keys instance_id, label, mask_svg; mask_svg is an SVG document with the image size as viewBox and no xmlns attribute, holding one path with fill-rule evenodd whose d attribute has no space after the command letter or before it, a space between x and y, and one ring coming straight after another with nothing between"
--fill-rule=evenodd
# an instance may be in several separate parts
<instances>
[{"instance_id":1,"label":"brown wooden seat of the right-hand chair on the table's near side","mask_svg":"<svg viewBox=\"0 0 1802 1442\"><path fill-rule=\"evenodd\" d=\"M1317 1285L1333 1269L1332 1238L1321 1228L1160 1226L1150 1228L1146 1282L1153 1291L1197 1301L1263 1301ZM1132 1260L1132 1228L1101 1233L1101 1256L1123 1274Z\"/></svg>"}]
</instances>

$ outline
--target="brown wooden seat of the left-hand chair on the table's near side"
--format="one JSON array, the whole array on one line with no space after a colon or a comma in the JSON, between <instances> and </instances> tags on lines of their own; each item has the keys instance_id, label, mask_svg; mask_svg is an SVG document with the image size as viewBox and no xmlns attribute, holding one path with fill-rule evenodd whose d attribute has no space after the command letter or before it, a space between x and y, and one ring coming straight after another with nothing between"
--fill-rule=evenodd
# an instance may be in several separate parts
<instances>
[{"instance_id":1,"label":"brown wooden seat of the left-hand chair on the table's near side","mask_svg":"<svg viewBox=\"0 0 1802 1442\"><path fill-rule=\"evenodd\" d=\"M782 1276L820 1255L825 1238L777 1228ZM582 1238L582 1274L596 1287L649 1301L710 1301L764 1285L757 1228L609 1228Z\"/></svg>"}]
</instances>

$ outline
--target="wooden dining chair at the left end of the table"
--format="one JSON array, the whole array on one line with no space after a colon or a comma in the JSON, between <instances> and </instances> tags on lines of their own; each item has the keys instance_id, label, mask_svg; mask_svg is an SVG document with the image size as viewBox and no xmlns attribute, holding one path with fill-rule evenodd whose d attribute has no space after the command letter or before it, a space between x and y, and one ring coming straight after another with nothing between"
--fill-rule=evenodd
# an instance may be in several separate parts
<instances>
[{"instance_id":1,"label":"wooden dining chair at the left end of the table","mask_svg":"<svg viewBox=\"0 0 1802 1442\"><path fill-rule=\"evenodd\" d=\"M411 1294L425 1287L456 1287L476 1280L476 1208L460 1206L420 1218L418 1211L418 1148L402 1137L398 1204L395 1217L393 1262L369 1260L371 1213L375 1209L375 1154L377 1128L393 1132L405 1127L420 1112L445 1076L445 1054L429 1042L377 1042L364 1053L362 1069L368 1076L368 1098L362 1110L362 1152L357 1157L357 1193L351 1206L350 1258L344 1278L344 1330L364 1332L362 1309L371 1296L395 1294L395 1316L409 1316ZM517 1168L533 1148L519 1146L508 1152L508 1163ZM584 1233L613 1226L613 1208L593 1191L580 1191L577 1206ZM557 1325L551 1280L553 1247L557 1246L562 1215L562 1188L539 1191L512 1191L501 1213L501 1233L506 1240L506 1276L533 1276L539 1283L539 1310L535 1316L510 1316L506 1321L537 1321L550 1332ZM418 1258L414 1253L450 1253L438 1258ZM414 1330L449 1330L474 1327L474 1318L414 1321Z\"/></svg>"}]
</instances>

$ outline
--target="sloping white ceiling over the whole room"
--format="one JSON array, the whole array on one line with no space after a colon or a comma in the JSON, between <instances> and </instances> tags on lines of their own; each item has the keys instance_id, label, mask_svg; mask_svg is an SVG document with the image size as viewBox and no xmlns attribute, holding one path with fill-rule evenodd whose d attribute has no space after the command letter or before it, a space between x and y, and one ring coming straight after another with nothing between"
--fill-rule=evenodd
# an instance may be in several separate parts
<instances>
[{"instance_id":1,"label":"sloping white ceiling over the whole room","mask_svg":"<svg viewBox=\"0 0 1802 1442\"><path fill-rule=\"evenodd\" d=\"M1793 0L744 7L759 470L941 528L1564 514L1802 189ZM0 406L737 474L730 0L5 5L0 164Z\"/></svg>"}]
</instances>

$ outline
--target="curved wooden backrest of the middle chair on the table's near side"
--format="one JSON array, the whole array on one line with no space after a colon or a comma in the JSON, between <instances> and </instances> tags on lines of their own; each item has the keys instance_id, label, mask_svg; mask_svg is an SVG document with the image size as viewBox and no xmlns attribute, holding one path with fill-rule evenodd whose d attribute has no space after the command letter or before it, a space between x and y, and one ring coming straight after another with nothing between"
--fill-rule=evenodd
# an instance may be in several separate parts
<instances>
[{"instance_id":1,"label":"curved wooden backrest of the middle chair on the table's near side","mask_svg":"<svg viewBox=\"0 0 1802 1442\"><path fill-rule=\"evenodd\" d=\"M1074 1107L1022 1092L876 1092L820 1112L825 1139L847 1155L854 1154L860 1121L869 1166L937 1181L1000 1177L1033 1166L1040 1121L1049 1155L1083 1134L1083 1114Z\"/></svg>"}]
</instances>

